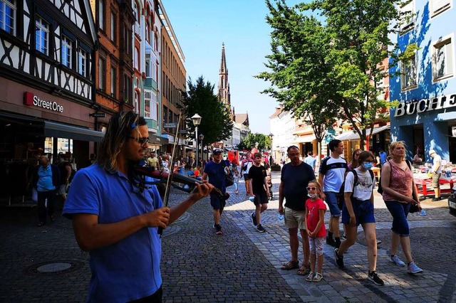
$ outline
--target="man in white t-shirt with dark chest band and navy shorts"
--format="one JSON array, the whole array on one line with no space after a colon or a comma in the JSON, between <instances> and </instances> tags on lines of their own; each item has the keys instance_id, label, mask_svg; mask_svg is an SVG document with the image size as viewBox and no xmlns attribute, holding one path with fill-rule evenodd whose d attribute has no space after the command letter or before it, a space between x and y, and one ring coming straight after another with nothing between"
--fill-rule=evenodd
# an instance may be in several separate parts
<instances>
[{"instance_id":1,"label":"man in white t-shirt with dark chest band and navy shorts","mask_svg":"<svg viewBox=\"0 0 456 303\"><path fill-rule=\"evenodd\" d=\"M321 161L318 182L323 187L322 197L328 203L331 218L329 219L328 235L326 244L338 248L341 245L341 233L339 231L339 219L341 210L338 206L338 195L347 172L347 161L341 157L343 143L333 139L328 144L331 155ZM333 238L334 235L334 238Z\"/></svg>"}]
</instances>

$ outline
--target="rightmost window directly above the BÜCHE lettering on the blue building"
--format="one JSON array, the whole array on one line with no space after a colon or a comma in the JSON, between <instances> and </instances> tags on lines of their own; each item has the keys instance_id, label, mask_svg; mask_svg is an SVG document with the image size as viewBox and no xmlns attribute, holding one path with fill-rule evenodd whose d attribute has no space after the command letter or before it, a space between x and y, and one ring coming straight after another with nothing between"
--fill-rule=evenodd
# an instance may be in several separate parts
<instances>
[{"instance_id":1,"label":"rightmost window directly above the B\u00dcCHE lettering on the blue building","mask_svg":"<svg viewBox=\"0 0 456 303\"><path fill-rule=\"evenodd\" d=\"M433 80L438 81L453 75L453 50L451 38L435 43L432 58Z\"/></svg>"}]
</instances>

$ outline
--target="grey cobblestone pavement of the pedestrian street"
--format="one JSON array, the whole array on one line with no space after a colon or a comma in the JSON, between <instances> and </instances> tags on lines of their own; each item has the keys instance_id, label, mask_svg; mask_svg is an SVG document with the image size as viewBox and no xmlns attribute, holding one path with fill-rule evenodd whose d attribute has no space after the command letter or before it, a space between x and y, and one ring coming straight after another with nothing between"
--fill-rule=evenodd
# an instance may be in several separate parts
<instances>
[{"instance_id":1,"label":"grey cobblestone pavement of the pedestrian street","mask_svg":"<svg viewBox=\"0 0 456 303\"><path fill-rule=\"evenodd\" d=\"M277 218L279 173L273 172L273 183L274 200L262 218L266 233L258 233L249 220L254 206L242 183L239 195L229 188L222 236L212 229L208 198L164 230L165 302L456 302L456 218L448 213L446 200L425 200L427 216L409 216L412 251L423 274L408 275L406 267L388 260L391 217L375 194L377 238L382 240L378 274L385 285L366 280L361 229L345 255L346 270L338 270L326 246L323 280L314 283L295 270L280 270L290 252L287 230ZM170 204L184 197L172 191ZM78 248L71 221L58 217L37 228L35 217L35 208L1 209L0 302L84 302L88 254ZM328 223L328 213L325 218Z\"/></svg>"}]
</instances>

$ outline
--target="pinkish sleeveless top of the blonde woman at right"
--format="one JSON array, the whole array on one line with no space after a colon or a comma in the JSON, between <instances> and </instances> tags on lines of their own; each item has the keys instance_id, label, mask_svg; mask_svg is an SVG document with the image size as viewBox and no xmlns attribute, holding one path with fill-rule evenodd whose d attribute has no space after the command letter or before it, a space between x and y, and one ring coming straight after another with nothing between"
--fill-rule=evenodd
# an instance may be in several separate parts
<instances>
[{"instance_id":1,"label":"pinkish sleeveless top of the blonde woman at right","mask_svg":"<svg viewBox=\"0 0 456 303\"><path fill-rule=\"evenodd\" d=\"M391 168L391 176L390 176L390 188L393 191L400 193L406 197L411 197L413 190L413 172L410 171L408 165L405 166L405 171L400 169L398 164L395 164L394 161L388 161ZM385 201L397 201L398 199L393 198L392 196L388 195L388 193L383 192L383 200ZM405 201L399 201L406 203Z\"/></svg>"}]
</instances>

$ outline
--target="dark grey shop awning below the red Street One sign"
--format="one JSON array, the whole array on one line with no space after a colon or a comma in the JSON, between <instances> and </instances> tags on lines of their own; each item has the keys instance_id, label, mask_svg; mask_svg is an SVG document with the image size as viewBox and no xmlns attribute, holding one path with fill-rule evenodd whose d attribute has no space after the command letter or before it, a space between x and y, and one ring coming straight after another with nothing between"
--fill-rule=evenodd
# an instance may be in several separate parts
<instances>
[{"instance_id":1,"label":"dark grey shop awning below the red Street One sign","mask_svg":"<svg viewBox=\"0 0 456 303\"><path fill-rule=\"evenodd\" d=\"M83 127L74 127L67 124L45 121L44 135L46 137L100 142L104 136L104 133L92 129L86 129Z\"/></svg>"}]
</instances>

